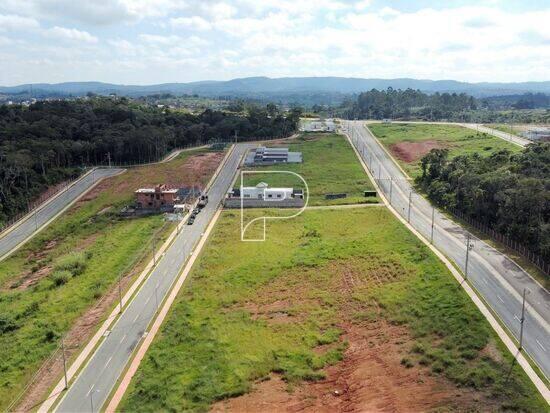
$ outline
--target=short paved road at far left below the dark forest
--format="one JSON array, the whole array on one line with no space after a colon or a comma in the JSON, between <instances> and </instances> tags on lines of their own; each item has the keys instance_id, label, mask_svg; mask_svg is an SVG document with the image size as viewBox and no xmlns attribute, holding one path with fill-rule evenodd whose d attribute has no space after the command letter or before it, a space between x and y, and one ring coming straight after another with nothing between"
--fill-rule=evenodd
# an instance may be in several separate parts
<instances>
[{"instance_id":1,"label":"short paved road at far left below the dark forest","mask_svg":"<svg viewBox=\"0 0 550 413\"><path fill-rule=\"evenodd\" d=\"M23 245L29 237L34 235L50 219L55 217L67 205L102 178L120 173L122 169L97 169L73 183L50 202L42 204L34 213L27 217L13 230L0 234L0 260L3 260L13 251Z\"/></svg>"}]
</instances>

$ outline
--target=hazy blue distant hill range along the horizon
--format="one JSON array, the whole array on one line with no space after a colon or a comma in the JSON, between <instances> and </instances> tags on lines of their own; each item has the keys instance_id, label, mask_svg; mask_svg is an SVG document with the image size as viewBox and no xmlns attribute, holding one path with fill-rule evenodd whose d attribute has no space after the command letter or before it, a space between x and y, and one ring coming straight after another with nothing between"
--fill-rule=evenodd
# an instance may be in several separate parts
<instances>
[{"instance_id":1,"label":"hazy blue distant hill range along the horizon","mask_svg":"<svg viewBox=\"0 0 550 413\"><path fill-rule=\"evenodd\" d=\"M96 94L116 93L140 96L153 93L198 94L207 97L234 96L250 98L299 99L300 95L342 95L359 93L370 89L419 89L426 93L456 92L475 97L503 96L521 93L550 94L550 81L523 83L467 83L455 80L418 79L361 79L344 77L248 77L228 81L202 81L191 83L163 83L158 85L118 85L101 82L37 83L32 85L33 96L59 95L81 96L88 92ZM1 87L1 94L27 94L31 85ZM288 99L284 99L288 100Z\"/></svg>"}]
</instances>

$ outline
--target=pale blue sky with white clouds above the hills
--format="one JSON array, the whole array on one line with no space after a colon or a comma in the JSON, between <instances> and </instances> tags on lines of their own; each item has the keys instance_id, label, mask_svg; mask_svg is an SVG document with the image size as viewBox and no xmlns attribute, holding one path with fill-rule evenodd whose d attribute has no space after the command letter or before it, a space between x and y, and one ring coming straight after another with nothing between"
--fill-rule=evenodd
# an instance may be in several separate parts
<instances>
[{"instance_id":1,"label":"pale blue sky with white clouds above the hills","mask_svg":"<svg viewBox=\"0 0 550 413\"><path fill-rule=\"evenodd\" d=\"M550 0L1 0L0 85L550 80Z\"/></svg>"}]
</instances>

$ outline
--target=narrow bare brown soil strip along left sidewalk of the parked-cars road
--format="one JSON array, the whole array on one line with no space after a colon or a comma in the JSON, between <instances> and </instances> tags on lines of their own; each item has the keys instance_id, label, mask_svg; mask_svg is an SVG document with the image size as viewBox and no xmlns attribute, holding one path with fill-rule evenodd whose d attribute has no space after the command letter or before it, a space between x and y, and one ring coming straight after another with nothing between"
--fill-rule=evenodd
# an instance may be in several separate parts
<instances>
[{"instance_id":1,"label":"narrow bare brown soil strip along left sidewalk of the parked-cars road","mask_svg":"<svg viewBox=\"0 0 550 413\"><path fill-rule=\"evenodd\" d=\"M141 263L137 264L130 273L122 277L121 286L123 291L128 288L129 284L141 269ZM93 307L89 308L80 318L78 318L78 320L76 320L64 340L65 356L67 360L71 360L78 355L95 334L99 325L105 321L106 312L112 308L118 299L118 284L116 284L113 285L111 290L109 290ZM21 399L16 406L15 411L27 412L38 408L62 375L63 358L61 351L58 351L53 358L42 366L41 374L37 377L37 380L31 384L26 394L23 396L23 399Z\"/></svg>"}]
</instances>

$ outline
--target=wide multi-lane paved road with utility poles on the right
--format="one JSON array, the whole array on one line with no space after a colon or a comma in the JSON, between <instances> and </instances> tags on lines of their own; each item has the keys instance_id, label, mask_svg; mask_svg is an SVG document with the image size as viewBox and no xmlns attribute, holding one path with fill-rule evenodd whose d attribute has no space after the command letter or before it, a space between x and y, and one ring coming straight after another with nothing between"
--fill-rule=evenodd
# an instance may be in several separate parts
<instances>
[{"instance_id":1,"label":"wide multi-lane paved road with utility poles on the right","mask_svg":"<svg viewBox=\"0 0 550 413\"><path fill-rule=\"evenodd\" d=\"M388 198L391 192L394 208L407 219L412 190L409 181L361 122L345 122L344 125ZM414 192L411 201L410 223L430 239L432 207ZM467 232L438 211L435 211L434 221L434 245L464 270ZM524 348L549 377L550 294L504 254L481 240L473 238L473 244L469 254L469 280L516 338L520 332L521 294L523 288L530 291L524 323Z\"/></svg>"}]
</instances>

